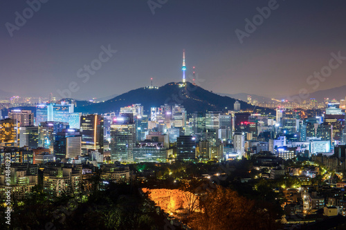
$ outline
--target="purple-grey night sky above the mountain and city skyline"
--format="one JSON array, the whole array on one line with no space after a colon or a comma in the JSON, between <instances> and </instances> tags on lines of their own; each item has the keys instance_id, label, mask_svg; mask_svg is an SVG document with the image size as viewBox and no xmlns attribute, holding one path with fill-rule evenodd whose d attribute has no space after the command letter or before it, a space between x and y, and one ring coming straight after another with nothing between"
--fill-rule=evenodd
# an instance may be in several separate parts
<instances>
[{"instance_id":1,"label":"purple-grey night sky above the mountain and city skyline","mask_svg":"<svg viewBox=\"0 0 346 230\"><path fill-rule=\"evenodd\" d=\"M307 84L331 52L346 57L346 1L277 1L243 44L235 30L269 1L159 1L153 15L146 0L50 0L10 37L6 23L15 25L28 4L2 0L0 90L59 97L76 82L71 97L90 99L147 86L150 77L162 86L181 80L183 49L186 75L196 66L200 86L214 92L295 95L346 84L346 60L318 88ZM117 52L88 80L78 77L109 45Z\"/></svg>"}]
</instances>

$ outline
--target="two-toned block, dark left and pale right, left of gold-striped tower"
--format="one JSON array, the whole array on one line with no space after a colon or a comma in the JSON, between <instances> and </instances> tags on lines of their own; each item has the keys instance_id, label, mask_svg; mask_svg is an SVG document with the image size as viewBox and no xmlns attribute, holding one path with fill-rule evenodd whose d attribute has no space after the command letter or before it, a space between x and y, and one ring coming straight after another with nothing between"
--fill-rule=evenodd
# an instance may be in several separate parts
<instances>
[{"instance_id":1,"label":"two-toned block, dark left and pale right, left of gold-striped tower","mask_svg":"<svg viewBox=\"0 0 346 230\"><path fill-rule=\"evenodd\" d=\"M55 160L74 158L82 153L82 136L75 129L65 129L55 135L54 155Z\"/></svg>"}]
</instances>

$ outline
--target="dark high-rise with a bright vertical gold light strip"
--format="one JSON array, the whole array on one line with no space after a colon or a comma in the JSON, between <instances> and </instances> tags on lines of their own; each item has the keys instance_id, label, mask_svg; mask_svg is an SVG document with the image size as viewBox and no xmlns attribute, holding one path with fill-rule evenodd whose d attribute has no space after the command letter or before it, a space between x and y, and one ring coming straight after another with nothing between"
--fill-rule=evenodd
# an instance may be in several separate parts
<instances>
[{"instance_id":1,"label":"dark high-rise with a bright vertical gold light strip","mask_svg":"<svg viewBox=\"0 0 346 230\"><path fill-rule=\"evenodd\" d=\"M82 135L82 153L89 150L103 154L103 124L102 115L82 115L80 118L80 134Z\"/></svg>"}]
</instances>

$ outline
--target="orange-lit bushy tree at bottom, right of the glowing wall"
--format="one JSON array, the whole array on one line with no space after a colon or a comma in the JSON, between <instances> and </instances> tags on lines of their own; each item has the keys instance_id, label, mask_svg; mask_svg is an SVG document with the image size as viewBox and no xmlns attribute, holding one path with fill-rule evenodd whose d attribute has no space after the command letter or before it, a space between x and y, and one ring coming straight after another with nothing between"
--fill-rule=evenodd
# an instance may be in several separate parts
<instances>
[{"instance_id":1,"label":"orange-lit bushy tree at bottom, right of the glowing wall","mask_svg":"<svg viewBox=\"0 0 346 230\"><path fill-rule=\"evenodd\" d=\"M193 213L188 223L192 229L278 228L270 209L221 186L199 198L199 209L201 211Z\"/></svg>"}]
</instances>

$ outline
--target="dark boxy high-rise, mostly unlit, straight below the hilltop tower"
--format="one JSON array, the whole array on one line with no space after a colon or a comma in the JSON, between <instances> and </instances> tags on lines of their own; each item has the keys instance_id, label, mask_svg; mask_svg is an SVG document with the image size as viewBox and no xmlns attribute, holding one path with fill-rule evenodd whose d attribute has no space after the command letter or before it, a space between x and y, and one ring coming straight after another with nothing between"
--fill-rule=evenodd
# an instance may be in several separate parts
<instances>
[{"instance_id":1,"label":"dark boxy high-rise, mostly unlit, straight below the hilltop tower","mask_svg":"<svg viewBox=\"0 0 346 230\"><path fill-rule=\"evenodd\" d=\"M176 138L176 159L193 160L196 158L196 140L192 135Z\"/></svg>"}]
</instances>

